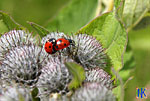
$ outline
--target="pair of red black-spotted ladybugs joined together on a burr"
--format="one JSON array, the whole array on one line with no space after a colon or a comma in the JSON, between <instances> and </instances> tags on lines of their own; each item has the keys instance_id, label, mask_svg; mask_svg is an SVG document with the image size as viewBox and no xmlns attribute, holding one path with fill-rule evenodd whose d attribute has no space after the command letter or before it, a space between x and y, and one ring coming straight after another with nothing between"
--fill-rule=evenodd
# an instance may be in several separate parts
<instances>
[{"instance_id":1,"label":"pair of red black-spotted ladybugs joined together on a burr","mask_svg":"<svg viewBox=\"0 0 150 101\"><path fill-rule=\"evenodd\" d=\"M46 41L44 49L49 54L54 54L59 50L62 50L64 48L67 48L69 45L75 45L74 41L71 39L66 38L51 38L48 41Z\"/></svg>"}]
</instances>

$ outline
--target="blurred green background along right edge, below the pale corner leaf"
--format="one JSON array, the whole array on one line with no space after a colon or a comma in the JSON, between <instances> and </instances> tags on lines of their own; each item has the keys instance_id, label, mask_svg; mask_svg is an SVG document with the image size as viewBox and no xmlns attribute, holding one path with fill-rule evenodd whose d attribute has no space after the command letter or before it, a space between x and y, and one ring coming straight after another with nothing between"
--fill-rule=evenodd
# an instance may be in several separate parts
<instances>
[{"instance_id":1,"label":"blurred green background along right edge, below the pale corner leaf","mask_svg":"<svg viewBox=\"0 0 150 101\"><path fill-rule=\"evenodd\" d=\"M150 25L142 29L131 30L129 32L129 40L136 62L136 68L130 74L134 78L126 86L125 100L135 99L136 87L145 87L150 81Z\"/></svg>"}]
</instances>

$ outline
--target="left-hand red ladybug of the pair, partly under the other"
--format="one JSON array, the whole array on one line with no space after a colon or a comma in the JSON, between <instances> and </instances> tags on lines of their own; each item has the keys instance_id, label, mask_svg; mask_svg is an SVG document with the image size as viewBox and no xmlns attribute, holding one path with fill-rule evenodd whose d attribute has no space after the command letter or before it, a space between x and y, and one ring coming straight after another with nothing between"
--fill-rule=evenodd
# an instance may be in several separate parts
<instances>
[{"instance_id":1,"label":"left-hand red ladybug of the pair, partly under the other","mask_svg":"<svg viewBox=\"0 0 150 101\"><path fill-rule=\"evenodd\" d=\"M57 51L55 50L54 46L56 45L56 39L55 38L51 38L48 41L46 41L44 49L47 53L49 54L54 54Z\"/></svg>"}]
</instances>

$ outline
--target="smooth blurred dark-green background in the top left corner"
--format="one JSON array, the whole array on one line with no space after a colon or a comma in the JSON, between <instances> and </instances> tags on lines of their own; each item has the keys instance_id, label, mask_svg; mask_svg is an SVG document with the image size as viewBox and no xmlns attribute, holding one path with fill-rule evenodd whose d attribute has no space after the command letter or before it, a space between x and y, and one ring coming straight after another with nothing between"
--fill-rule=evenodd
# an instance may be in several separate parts
<instances>
[{"instance_id":1,"label":"smooth blurred dark-green background in the top left corner","mask_svg":"<svg viewBox=\"0 0 150 101\"><path fill-rule=\"evenodd\" d=\"M8 12L19 24L31 29L26 21L44 25L69 0L0 0L0 10Z\"/></svg>"}]
</instances>

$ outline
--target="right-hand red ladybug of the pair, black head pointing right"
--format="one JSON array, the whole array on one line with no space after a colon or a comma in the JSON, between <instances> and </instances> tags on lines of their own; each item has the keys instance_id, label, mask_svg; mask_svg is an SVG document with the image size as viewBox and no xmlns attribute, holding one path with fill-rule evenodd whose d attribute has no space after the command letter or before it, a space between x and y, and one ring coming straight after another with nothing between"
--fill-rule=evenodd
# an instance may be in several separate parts
<instances>
[{"instance_id":1,"label":"right-hand red ladybug of the pair, black head pointing right","mask_svg":"<svg viewBox=\"0 0 150 101\"><path fill-rule=\"evenodd\" d=\"M74 41L71 39L60 38L56 40L56 45L54 46L54 49L58 51L67 48L69 45L74 46Z\"/></svg>"}]
</instances>

